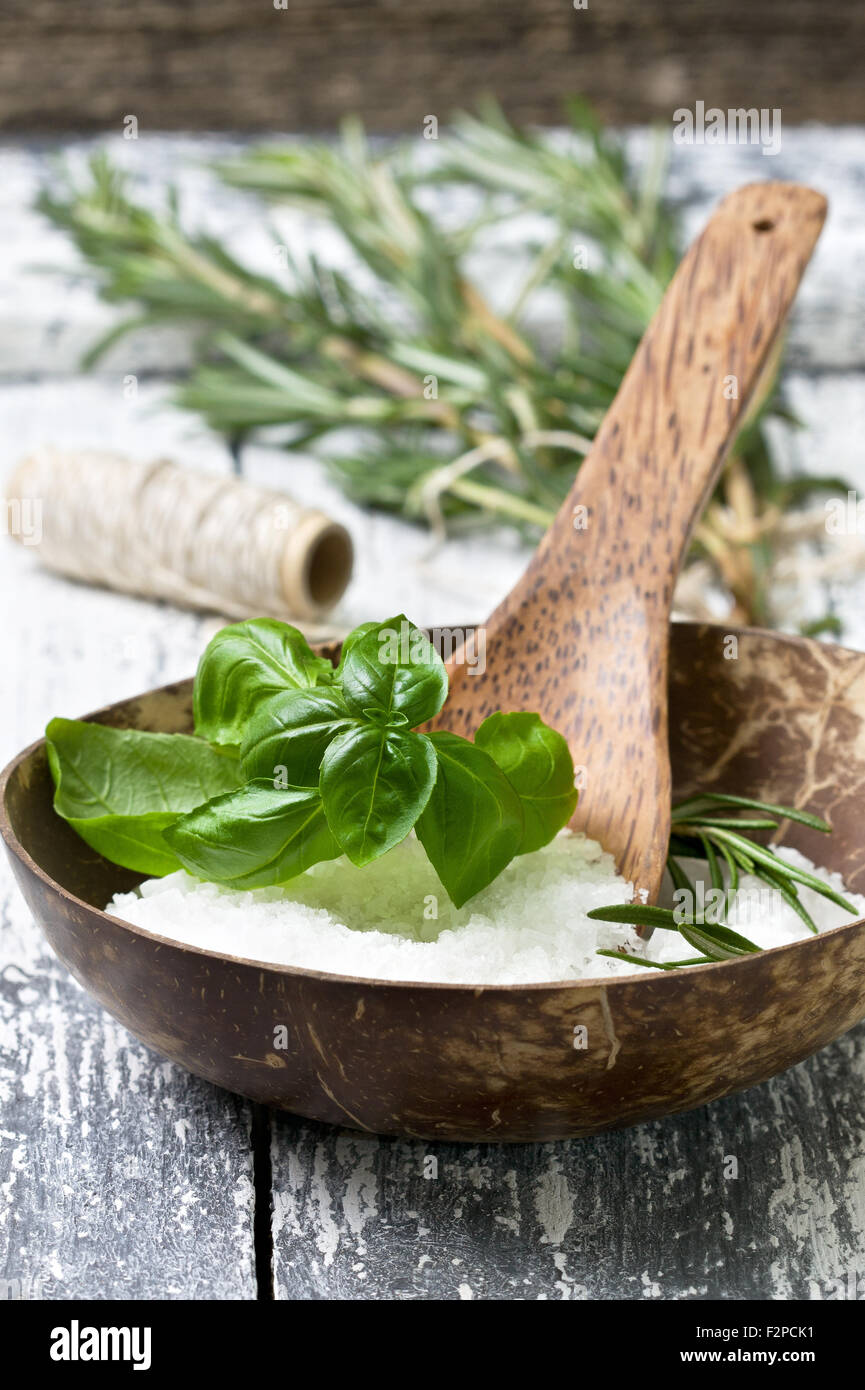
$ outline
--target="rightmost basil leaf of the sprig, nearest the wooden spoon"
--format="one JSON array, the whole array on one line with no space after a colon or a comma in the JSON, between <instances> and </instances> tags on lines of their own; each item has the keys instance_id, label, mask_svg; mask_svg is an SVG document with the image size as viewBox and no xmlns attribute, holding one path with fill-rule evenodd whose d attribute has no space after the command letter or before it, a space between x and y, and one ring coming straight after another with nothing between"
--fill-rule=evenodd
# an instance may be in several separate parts
<instances>
[{"instance_id":1,"label":"rightmost basil leaf of the sprig, nearest the wooden spoon","mask_svg":"<svg viewBox=\"0 0 865 1390\"><path fill-rule=\"evenodd\" d=\"M519 853L549 841L570 820L577 805L570 749L540 714L490 714L474 742L499 764L523 802L526 833Z\"/></svg>"}]
</instances>

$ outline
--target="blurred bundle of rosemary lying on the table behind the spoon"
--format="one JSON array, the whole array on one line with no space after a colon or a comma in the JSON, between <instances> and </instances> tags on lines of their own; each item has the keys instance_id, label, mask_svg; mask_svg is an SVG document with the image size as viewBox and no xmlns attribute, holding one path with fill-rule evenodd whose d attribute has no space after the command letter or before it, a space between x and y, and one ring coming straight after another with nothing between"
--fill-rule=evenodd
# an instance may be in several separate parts
<instances>
[{"instance_id":1,"label":"blurred bundle of rosemary lying on the table behind the spoon","mask_svg":"<svg viewBox=\"0 0 865 1390\"><path fill-rule=\"evenodd\" d=\"M349 121L339 143L266 146L218 165L227 183L335 231L357 274L293 252L275 229L271 270L252 270L186 225L175 190L161 214L136 200L104 154L83 183L61 170L39 207L103 297L135 306L89 363L129 328L191 327L195 367L178 399L235 445L277 427L288 450L318 448L367 506L439 531L503 520L537 535L676 265L663 143L636 171L580 103L556 138L488 104L455 122L435 158L414 153L373 149ZM462 215L442 215L442 183L459 186ZM520 282L494 307L471 267L524 214ZM768 414L787 416L772 374L695 539L747 621L765 620L775 521L834 485L780 477Z\"/></svg>"}]
</instances>

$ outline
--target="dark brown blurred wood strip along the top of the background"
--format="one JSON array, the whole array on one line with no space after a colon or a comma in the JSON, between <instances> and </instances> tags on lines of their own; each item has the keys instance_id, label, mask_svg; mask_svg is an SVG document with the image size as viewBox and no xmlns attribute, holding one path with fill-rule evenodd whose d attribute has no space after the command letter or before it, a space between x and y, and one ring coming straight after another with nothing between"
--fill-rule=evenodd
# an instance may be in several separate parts
<instances>
[{"instance_id":1,"label":"dark brown blurred wood strip along the top of the background","mask_svg":"<svg viewBox=\"0 0 865 1390\"><path fill-rule=\"evenodd\" d=\"M864 39L861 6L808 0L6 0L0 124L413 129L480 92L548 122L573 92L612 121L695 97L855 121Z\"/></svg>"}]
</instances>

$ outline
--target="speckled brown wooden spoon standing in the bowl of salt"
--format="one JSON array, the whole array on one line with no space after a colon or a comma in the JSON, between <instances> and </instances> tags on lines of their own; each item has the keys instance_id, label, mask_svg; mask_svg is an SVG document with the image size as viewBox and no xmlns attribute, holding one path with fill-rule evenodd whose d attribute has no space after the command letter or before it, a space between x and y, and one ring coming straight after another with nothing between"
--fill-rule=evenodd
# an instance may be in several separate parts
<instances>
[{"instance_id":1,"label":"speckled brown wooden spoon standing in the bowl of salt","mask_svg":"<svg viewBox=\"0 0 865 1390\"><path fill-rule=\"evenodd\" d=\"M691 530L738 432L826 215L797 183L751 183L681 261L526 574L485 624L485 670L451 663L437 724L471 735L537 710L585 769L572 827L644 901L670 833L668 645Z\"/></svg>"}]
</instances>

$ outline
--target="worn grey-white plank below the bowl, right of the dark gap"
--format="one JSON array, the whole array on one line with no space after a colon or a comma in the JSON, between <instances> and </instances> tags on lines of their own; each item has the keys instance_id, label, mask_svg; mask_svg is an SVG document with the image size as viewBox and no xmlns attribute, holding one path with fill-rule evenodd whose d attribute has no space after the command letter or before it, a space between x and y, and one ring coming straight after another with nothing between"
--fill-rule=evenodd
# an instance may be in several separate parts
<instances>
[{"instance_id":1,"label":"worn grey-white plank below the bowl, right of the dark gap","mask_svg":"<svg viewBox=\"0 0 865 1390\"><path fill-rule=\"evenodd\" d=\"M862 1297L864 1083L865 1026L744 1095L569 1144L275 1116L275 1297Z\"/></svg>"}]
</instances>

